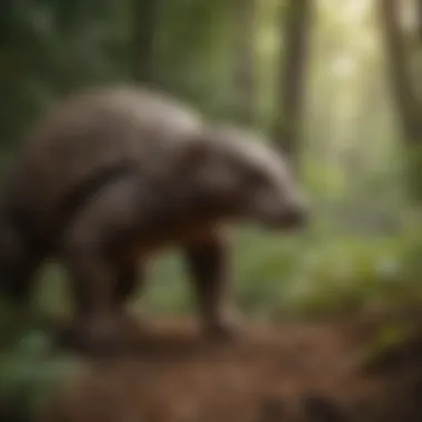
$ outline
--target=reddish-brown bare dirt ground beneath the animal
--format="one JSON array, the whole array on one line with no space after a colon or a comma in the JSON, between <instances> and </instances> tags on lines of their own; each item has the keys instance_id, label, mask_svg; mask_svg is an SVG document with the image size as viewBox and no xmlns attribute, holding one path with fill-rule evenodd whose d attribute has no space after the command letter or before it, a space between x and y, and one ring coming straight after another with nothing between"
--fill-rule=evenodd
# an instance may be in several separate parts
<instances>
[{"instance_id":1,"label":"reddish-brown bare dirt ground beneath the animal","mask_svg":"<svg viewBox=\"0 0 422 422\"><path fill-rule=\"evenodd\" d=\"M188 321L161 321L124 354L86 356L89 373L58 393L46 421L420 422L422 342L369 361L380 322L254 324L212 344Z\"/></svg>"}]
</instances>

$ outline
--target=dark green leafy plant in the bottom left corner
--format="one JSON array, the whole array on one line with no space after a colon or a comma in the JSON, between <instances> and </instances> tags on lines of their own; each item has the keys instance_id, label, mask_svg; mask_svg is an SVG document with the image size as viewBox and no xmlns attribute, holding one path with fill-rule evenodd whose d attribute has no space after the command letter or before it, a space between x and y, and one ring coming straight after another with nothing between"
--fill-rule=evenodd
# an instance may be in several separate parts
<instances>
[{"instance_id":1,"label":"dark green leafy plant in the bottom left corner","mask_svg":"<svg viewBox=\"0 0 422 422\"><path fill-rule=\"evenodd\" d=\"M36 419L79 379L84 364L54 354L51 333L39 328L39 310L22 315L2 303L0 311L0 419Z\"/></svg>"}]
</instances>

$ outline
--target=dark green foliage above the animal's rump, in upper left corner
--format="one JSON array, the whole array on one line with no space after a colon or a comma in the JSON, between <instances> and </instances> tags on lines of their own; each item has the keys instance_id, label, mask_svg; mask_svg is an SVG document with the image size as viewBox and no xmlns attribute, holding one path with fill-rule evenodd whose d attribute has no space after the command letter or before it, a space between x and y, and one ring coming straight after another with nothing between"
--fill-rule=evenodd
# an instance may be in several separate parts
<instances>
[{"instance_id":1,"label":"dark green foliage above the animal's rump, in upper left corner","mask_svg":"<svg viewBox=\"0 0 422 422\"><path fill-rule=\"evenodd\" d=\"M128 74L128 2L12 2L0 44L0 140L11 144L58 96ZM123 54L122 54L123 53Z\"/></svg>"}]
</instances>

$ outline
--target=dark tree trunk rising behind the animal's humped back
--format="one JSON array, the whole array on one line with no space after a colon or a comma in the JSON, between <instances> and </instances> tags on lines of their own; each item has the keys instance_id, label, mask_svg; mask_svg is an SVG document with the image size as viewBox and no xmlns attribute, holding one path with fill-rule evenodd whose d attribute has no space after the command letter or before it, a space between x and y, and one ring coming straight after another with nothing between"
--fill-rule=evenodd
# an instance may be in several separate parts
<instances>
[{"instance_id":1,"label":"dark tree trunk rising behind the animal's humped back","mask_svg":"<svg viewBox=\"0 0 422 422\"><path fill-rule=\"evenodd\" d=\"M133 0L133 78L152 84L159 0Z\"/></svg>"}]
</instances>

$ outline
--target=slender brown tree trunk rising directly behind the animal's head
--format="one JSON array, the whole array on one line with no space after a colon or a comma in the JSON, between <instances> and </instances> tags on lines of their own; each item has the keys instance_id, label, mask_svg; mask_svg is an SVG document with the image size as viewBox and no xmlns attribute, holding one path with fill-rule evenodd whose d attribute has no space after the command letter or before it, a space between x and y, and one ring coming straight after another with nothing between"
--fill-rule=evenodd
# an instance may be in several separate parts
<instances>
[{"instance_id":1,"label":"slender brown tree trunk rising directly behind the animal's head","mask_svg":"<svg viewBox=\"0 0 422 422\"><path fill-rule=\"evenodd\" d=\"M305 59L308 36L312 18L312 0L289 0L282 26L283 72L280 80L278 118L273 135L283 150L297 159L300 135L302 103L305 84Z\"/></svg>"}]
</instances>

